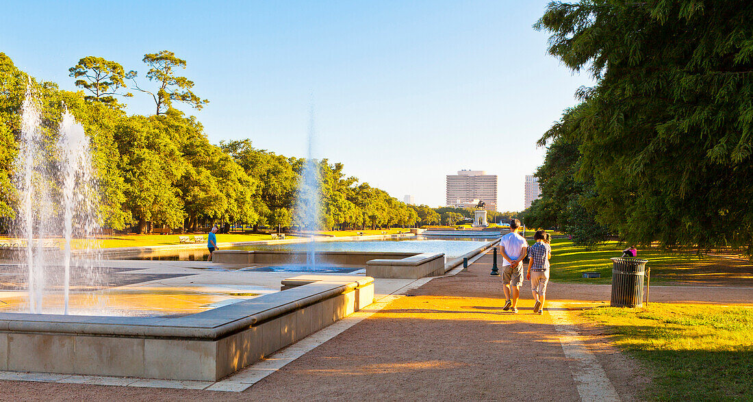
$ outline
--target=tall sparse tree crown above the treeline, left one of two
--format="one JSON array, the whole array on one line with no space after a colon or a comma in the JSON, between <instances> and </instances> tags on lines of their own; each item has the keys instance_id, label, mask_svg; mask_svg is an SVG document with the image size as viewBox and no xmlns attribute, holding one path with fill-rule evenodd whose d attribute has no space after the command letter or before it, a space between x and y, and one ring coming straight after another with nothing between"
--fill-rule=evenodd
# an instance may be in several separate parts
<instances>
[{"instance_id":1,"label":"tall sparse tree crown above the treeline, left one of two","mask_svg":"<svg viewBox=\"0 0 753 402\"><path fill-rule=\"evenodd\" d=\"M78 64L68 71L71 77L78 78L75 82L76 87L91 93L84 97L88 101L117 105L114 95L133 96L133 93L119 93L118 90L127 87L125 80L136 77L136 72L125 72L123 66L117 62L87 56L78 60Z\"/></svg>"}]
</instances>

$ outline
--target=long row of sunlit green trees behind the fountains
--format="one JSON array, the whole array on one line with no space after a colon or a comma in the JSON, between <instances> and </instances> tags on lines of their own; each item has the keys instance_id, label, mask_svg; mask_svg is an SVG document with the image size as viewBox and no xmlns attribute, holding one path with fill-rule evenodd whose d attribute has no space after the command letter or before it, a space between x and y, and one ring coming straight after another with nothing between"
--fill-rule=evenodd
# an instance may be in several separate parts
<instances>
[{"instance_id":1,"label":"long row of sunlit green trees behind the fountains","mask_svg":"<svg viewBox=\"0 0 753 402\"><path fill-rule=\"evenodd\" d=\"M172 101L196 108L206 104L189 90L191 81L173 72L184 67L185 61L168 51L144 59L151 66L147 77L159 85L150 92L157 113L128 116L112 96L124 86L124 79L136 73L124 73L117 62L94 56L79 60L70 72L81 78L77 85L89 93L85 94L30 79L0 53L0 218L5 227L17 205L11 169L27 82L41 99L42 126L50 144L57 136L63 107L90 137L105 227L123 230L136 225L139 233L162 225L195 230L223 222L291 227L296 222L294 200L303 160L255 149L248 139L212 145L195 117L171 107ZM50 148L53 160L51 152ZM316 163L321 177L322 228L364 230L412 226L419 221L415 209L383 190L346 177L341 163ZM438 223L439 215L431 209L428 212L431 221Z\"/></svg>"}]
</instances>

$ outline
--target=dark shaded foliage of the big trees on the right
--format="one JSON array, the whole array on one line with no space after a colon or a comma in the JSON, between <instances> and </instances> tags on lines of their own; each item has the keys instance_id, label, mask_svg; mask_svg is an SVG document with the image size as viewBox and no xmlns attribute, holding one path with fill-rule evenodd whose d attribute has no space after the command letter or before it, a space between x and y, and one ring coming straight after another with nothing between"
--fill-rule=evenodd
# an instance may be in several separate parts
<instances>
[{"instance_id":1,"label":"dark shaded foliage of the big trees on the right","mask_svg":"<svg viewBox=\"0 0 753 402\"><path fill-rule=\"evenodd\" d=\"M753 254L751 18L753 3L731 0L550 3L535 26L552 33L550 53L598 84L541 143L577 145L573 194L600 224L634 243ZM572 205L544 204L558 224Z\"/></svg>"}]
</instances>

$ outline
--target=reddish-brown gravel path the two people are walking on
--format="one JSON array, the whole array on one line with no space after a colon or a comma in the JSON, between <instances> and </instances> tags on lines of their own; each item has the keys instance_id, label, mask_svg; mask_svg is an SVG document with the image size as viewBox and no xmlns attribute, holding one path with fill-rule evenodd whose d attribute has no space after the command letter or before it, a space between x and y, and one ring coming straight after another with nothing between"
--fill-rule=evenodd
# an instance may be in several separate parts
<instances>
[{"instance_id":1,"label":"reddish-brown gravel path the two people are walking on","mask_svg":"<svg viewBox=\"0 0 753 402\"><path fill-rule=\"evenodd\" d=\"M503 312L490 268L486 255L467 273L428 282L239 394L0 381L0 399L579 400L574 360L563 352L550 312L532 314L528 282L520 313ZM651 288L653 300L668 302L751 303L751 295L753 288ZM608 303L609 286L552 284L548 296ZM620 399L633 400L646 384L640 367L599 327L579 328Z\"/></svg>"}]
</instances>

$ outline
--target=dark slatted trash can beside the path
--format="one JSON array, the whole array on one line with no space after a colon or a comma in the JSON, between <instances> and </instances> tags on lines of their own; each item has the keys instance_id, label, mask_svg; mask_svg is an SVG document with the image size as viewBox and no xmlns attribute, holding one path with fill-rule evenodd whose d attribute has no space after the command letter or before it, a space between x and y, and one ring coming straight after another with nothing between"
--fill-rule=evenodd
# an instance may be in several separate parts
<instances>
[{"instance_id":1,"label":"dark slatted trash can beside the path","mask_svg":"<svg viewBox=\"0 0 753 402\"><path fill-rule=\"evenodd\" d=\"M643 279L646 276L648 260L633 257L611 258L612 268L612 307L642 307Z\"/></svg>"}]
</instances>

